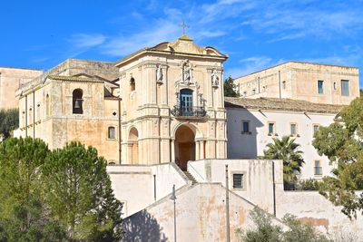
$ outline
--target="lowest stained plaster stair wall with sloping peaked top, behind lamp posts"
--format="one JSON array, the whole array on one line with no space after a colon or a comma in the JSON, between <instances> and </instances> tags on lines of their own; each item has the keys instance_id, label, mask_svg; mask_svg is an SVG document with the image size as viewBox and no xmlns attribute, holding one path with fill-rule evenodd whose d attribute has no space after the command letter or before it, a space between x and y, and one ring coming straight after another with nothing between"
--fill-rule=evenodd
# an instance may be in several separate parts
<instances>
[{"instance_id":1,"label":"lowest stained plaster stair wall with sloping peaked top, behind lamp posts","mask_svg":"<svg viewBox=\"0 0 363 242\"><path fill-rule=\"evenodd\" d=\"M226 241L226 190L220 183L200 183L176 192L178 241ZM251 227L249 211L254 205L230 192L231 241L235 230ZM173 201L164 198L124 219L125 241L173 241ZM280 224L278 220L274 223Z\"/></svg>"}]
</instances>

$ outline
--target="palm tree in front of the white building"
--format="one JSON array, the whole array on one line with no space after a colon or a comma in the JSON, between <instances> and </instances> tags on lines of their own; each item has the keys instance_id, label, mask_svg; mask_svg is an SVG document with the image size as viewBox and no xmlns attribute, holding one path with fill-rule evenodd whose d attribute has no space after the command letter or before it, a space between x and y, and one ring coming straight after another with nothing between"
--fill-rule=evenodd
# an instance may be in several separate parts
<instances>
[{"instance_id":1,"label":"palm tree in front of the white building","mask_svg":"<svg viewBox=\"0 0 363 242\"><path fill-rule=\"evenodd\" d=\"M283 160L283 179L284 184L293 185L297 181L296 174L304 163L302 151L295 139L290 140L289 136L283 136L281 140L272 139L273 143L267 144L267 150L263 150L264 159Z\"/></svg>"}]
</instances>

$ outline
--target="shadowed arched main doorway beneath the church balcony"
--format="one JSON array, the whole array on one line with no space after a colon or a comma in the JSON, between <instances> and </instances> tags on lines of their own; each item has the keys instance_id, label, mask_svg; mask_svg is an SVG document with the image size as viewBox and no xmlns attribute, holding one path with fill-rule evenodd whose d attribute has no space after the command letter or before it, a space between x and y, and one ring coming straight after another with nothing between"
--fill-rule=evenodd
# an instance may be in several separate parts
<instances>
[{"instance_id":1,"label":"shadowed arched main doorway beneath the church balcony","mask_svg":"<svg viewBox=\"0 0 363 242\"><path fill-rule=\"evenodd\" d=\"M188 160L195 160L195 133L187 125L175 132L175 163L187 170Z\"/></svg>"}]
</instances>

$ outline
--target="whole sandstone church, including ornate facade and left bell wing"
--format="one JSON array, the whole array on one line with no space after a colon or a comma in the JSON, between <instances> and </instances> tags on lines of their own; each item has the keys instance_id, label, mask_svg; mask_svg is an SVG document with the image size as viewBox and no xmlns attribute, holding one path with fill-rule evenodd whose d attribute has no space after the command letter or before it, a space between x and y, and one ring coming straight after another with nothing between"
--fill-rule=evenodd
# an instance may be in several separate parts
<instances>
[{"instance_id":1,"label":"whole sandstone church, including ornate facade and left bell wing","mask_svg":"<svg viewBox=\"0 0 363 242\"><path fill-rule=\"evenodd\" d=\"M80 140L115 164L224 159L227 58L182 35L115 65L67 60L20 87L20 135Z\"/></svg>"}]
</instances>

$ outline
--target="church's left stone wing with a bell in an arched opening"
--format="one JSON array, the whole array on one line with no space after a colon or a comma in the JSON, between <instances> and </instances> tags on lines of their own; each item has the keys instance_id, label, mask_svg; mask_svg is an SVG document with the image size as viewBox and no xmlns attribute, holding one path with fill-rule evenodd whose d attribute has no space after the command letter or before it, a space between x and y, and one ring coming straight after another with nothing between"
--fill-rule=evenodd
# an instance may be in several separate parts
<instances>
[{"instance_id":1,"label":"church's left stone wing with a bell in an arched opening","mask_svg":"<svg viewBox=\"0 0 363 242\"><path fill-rule=\"evenodd\" d=\"M118 160L116 81L114 63L60 63L18 90L19 134L40 138L50 149L78 140Z\"/></svg>"}]
</instances>

